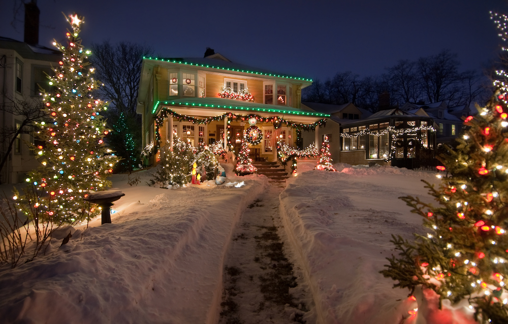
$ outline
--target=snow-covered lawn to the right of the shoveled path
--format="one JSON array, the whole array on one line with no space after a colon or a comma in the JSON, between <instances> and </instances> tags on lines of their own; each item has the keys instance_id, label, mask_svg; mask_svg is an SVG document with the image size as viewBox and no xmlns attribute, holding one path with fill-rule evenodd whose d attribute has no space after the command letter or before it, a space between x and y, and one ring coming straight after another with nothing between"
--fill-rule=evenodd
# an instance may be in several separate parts
<instances>
[{"instance_id":1,"label":"snow-covered lawn to the right of the shoveled path","mask_svg":"<svg viewBox=\"0 0 508 324\"><path fill-rule=\"evenodd\" d=\"M312 170L288 179L279 197L319 320L399 323L417 304L407 300L407 290L392 289L393 280L379 270L394 253L391 234L412 238L422 232L421 218L397 198L413 195L431 202L419 180L435 183L435 173L334 166L341 172Z\"/></svg>"}]
</instances>

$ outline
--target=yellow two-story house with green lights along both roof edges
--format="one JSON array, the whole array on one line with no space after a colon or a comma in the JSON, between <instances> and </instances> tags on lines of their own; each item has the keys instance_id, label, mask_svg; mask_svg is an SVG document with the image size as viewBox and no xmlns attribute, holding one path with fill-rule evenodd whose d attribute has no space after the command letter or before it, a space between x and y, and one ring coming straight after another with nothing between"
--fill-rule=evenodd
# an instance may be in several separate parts
<instances>
[{"instance_id":1,"label":"yellow two-story house with green lights along both roof edges","mask_svg":"<svg viewBox=\"0 0 508 324\"><path fill-rule=\"evenodd\" d=\"M204 58L145 57L136 110L143 144L153 143L157 152L171 148L173 133L193 146L220 142L238 153L248 129L256 159L274 161L277 140L301 148L302 131L328 117L301 104L301 90L311 84L231 62L211 49Z\"/></svg>"}]
</instances>

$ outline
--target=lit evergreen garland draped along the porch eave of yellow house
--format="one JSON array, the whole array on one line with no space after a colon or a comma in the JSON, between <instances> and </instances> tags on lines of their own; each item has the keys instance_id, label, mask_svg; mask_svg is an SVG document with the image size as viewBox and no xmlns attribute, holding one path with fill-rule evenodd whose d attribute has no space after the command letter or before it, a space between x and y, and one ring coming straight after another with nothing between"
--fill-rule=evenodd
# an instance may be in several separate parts
<instances>
[{"instance_id":1,"label":"lit evergreen garland draped along the porch eave of yellow house","mask_svg":"<svg viewBox=\"0 0 508 324\"><path fill-rule=\"evenodd\" d=\"M237 122L241 121L247 121L249 118L254 117L256 118L257 122L260 123L281 123L286 124L288 127L295 128L297 130L297 134L301 134L302 130L310 131L314 130L316 127L321 127L326 124L326 119L323 118L322 120L319 120L312 124L302 124L302 123L295 123L283 118L279 118L278 116L273 117L261 117L256 114L248 114L248 115L238 115L233 113L224 113L219 116L215 117L207 117L207 118L196 118L192 116L186 116L186 115L180 115L173 110L163 107L161 109L160 114L155 117L155 151L158 150L161 146L161 135L159 134L159 128L164 122L164 119L168 116L173 115L174 118L176 118L179 122L190 122L193 124L209 124L214 121L223 121L226 117L228 118L228 128L231 126L229 125L231 123L231 120L235 120ZM298 138L297 138L298 140ZM228 135L228 143L230 143L230 138Z\"/></svg>"}]
</instances>

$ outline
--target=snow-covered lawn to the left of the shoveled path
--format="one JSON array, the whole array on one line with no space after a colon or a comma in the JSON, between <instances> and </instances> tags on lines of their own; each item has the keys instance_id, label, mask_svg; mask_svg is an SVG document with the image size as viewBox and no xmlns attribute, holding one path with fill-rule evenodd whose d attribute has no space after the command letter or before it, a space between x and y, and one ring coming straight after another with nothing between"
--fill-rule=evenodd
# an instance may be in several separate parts
<instances>
[{"instance_id":1,"label":"snow-covered lawn to the left of the shoveled path","mask_svg":"<svg viewBox=\"0 0 508 324\"><path fill-rule=\"evenodd\" d=\"M267 178L165 190L144 186L147 173L137 187L114 176L125 196L113 224L83 225L66 245L54 240L47 256L0 269L3 323L216 322L232 229Z\"/></svg>"}]
</instances>

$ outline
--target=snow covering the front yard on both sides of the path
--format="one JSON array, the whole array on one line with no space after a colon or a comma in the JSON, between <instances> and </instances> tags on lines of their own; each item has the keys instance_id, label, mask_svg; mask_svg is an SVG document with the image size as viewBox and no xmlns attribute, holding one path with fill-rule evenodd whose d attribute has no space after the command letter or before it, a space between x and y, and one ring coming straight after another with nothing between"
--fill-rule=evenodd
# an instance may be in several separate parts
<instances>
[{"instance_id":1,"label":"snow covering the front yard on both sides of the path","mask_svg":"<svg viewBox=\"0 0 508 324\"><path fill-rule=\"evenodd\" d=\"M435 173L313 166L299 165L279 197L293 261L303 268L316 305L312 318L400 323L417 303L407 291L392 289L394 282L379 270L393 253L391 234L411 238L423 231L421 219L398 197L430 201L420 179L437 182ZM125 196L113 206L113 224L92 220L88 229L72 229L66 245L53 240L46 256L14 270L0 268L0 321L216 323L232 233L268 185L263 175L237 177L231 170L227 165L220 186L169 190L146 186L149 170L137 173L141 183L133 187L126 175L114 175L114 189ZM445 316L446 322L465 322L453 319L462 313Z\"/></svg>"}]
</instances>

